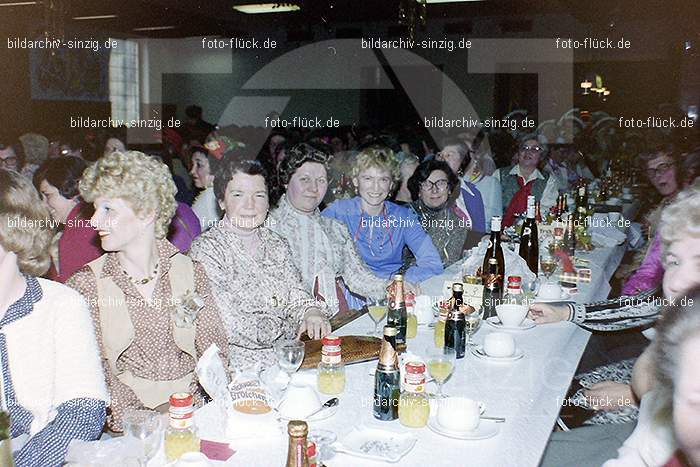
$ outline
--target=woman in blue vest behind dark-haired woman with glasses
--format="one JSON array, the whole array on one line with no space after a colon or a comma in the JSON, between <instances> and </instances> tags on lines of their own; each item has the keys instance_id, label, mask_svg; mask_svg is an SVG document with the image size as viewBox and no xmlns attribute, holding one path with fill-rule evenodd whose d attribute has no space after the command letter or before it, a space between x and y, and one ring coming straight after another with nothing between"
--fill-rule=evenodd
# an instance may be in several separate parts
<instances>
[{"instance_id":1,"label":"woman in blue vest behind dark-haired woman with glasses","mask_svg":"<svg viewBox=\"0 0 700 467\"><path fill-rule=\"evenodd\" d=\"M463 178L464 169L470 161L469 154L469 148L460 140L445 138L442 141L442 151L437 154L437 160L446 162L460 179L460 196L456 204L460 217L477 232L487 232L489 229L486 221L491 219L487 219L484 215L486 206L484 199L479 189Z\"/></svg>"}]
</instances>

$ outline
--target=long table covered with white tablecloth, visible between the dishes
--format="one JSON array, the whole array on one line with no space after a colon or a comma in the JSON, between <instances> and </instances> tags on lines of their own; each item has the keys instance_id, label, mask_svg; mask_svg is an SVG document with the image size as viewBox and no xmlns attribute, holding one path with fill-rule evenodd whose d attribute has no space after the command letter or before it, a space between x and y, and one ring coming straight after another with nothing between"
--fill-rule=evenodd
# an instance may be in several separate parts
<instances>
[{"instance_id":1,"label":"long table covered with white tablecloth, visible between the dishes","mask_svg":"<svg viewBox=\"0 0 700 467\"><path fill-rule=\"evenodd\" d=\"M599 247L583 256L590 261L593 278L581 284L576 301L586 303L606 298L608 282L624 254L626 245L614 248ZM422 293L439 295L443 281L459 277L459 265L442 275L421 284ZM366 335L373 327L368 316L363 316L337 331L343 335ZM484 323L475 334L481 343L494 329ZM331 418L311 422L310 429L333 431L342 441L354 427L365 425L381 427L400 433L412 433L417 442L398 465L469 465L469 466L537 466L561 408L579 359L590 333L572 323L537 326L527 331L512 333L517 346L525 356L513 363L492 363L468 354L458 360L452 377L445 383L448 395L465 395L483 401L488 415L506 417L499 425L498 435L481 441L463 441L440 436L428 427L408 429L398 421L377 422L372 417L373 377L376 362L359 363L346 367L346 388L340 396L338 412ZM433 329L419 326L418 335L408 341L408 350L425 355L433 346ZM302 372L309 379L313 370ZM432 384L428 390L434 390ZM322 400L324 396L321 396ZM487 422L483 422L487 423ZM273 466L283 465L287 452L285 425L280 424L277 436L234 440L230 446L234 454L227 462L215 465ZM200 425L202 437L207 427ZM151 465L161 465L158 459ZM387 465L337 453L324 461L330 467Z\"/></svg>"}]
</instances>

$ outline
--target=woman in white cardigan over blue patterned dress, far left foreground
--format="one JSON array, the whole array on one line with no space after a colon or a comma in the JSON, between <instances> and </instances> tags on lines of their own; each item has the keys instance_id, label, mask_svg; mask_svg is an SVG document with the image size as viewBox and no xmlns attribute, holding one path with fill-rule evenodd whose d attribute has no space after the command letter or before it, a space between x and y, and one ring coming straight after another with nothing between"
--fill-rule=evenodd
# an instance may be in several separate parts
<instances>
[{"instance_id":1,"label":"woman in white cardigan over blue patterned dress, far left foreground","mask_svg":"<svg viewBox=\"0 0 700 467\"><path fill-rule=\"evenodd\" d=\"M0 399L13 446L28 438L17 467L63 465L72 440L99 437L109 400L87 304L37 278L50 264L49 222L31 182L0 169Z\"/></svg>"}]
</instances>

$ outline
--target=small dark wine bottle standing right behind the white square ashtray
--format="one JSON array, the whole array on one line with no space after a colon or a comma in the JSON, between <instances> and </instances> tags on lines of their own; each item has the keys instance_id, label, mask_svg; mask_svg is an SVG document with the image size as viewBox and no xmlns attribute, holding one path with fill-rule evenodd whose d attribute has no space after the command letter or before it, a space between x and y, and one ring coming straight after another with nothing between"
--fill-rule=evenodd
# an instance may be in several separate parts
<instances>
[{"instance_id":1,"label":"small dark wine bottle standing right behind the white square ashtray","mask_svg":"<svg viewBox=\"0 0 700 467\"><path fill-rule=\"evenodd\" d=\"M401 373L396 353L396 328L384 326L384 340L379 350L379 363L374 374L374 418L382 421L399 418Z\"/></svg>"}]
</instances>

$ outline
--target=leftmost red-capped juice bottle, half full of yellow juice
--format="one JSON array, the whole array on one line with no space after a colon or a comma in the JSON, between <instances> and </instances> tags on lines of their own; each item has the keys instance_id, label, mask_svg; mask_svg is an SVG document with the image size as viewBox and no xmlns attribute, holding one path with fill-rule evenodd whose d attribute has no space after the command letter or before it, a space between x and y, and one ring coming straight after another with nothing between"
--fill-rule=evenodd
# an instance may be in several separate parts
<instances>
[{"instance_id":1,"label":"leftmost red-capped juice bottle, half full of yellow juice","mask_svg":"<svg viewBox=\"0 0 700 467\"><path fill-rule=\"evenodd\" d=\"M170 396L170 424L165 431L165 457L168 462L172 462L186 452L199 452L192 394L176 392Z\"/></svg>"}]
</instances>

